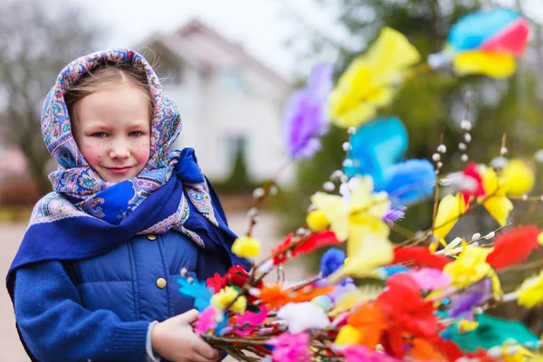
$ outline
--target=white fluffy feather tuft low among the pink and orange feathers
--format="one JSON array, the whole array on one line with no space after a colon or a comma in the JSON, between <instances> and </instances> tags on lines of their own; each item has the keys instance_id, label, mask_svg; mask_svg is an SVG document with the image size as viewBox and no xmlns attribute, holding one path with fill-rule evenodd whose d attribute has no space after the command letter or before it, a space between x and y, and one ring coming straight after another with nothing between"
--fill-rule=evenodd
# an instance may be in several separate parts
<instances>
[{"instance_id":1,"label":"white fluffy feather tuft low among the pink and orange feathers","mask_svg":"<svg viewBox=\"0 0 543 362\"><path fill-rule=\"evenodd\" d=\"M325 329L330 325L324 310L310 302L289 303L277 311L277 317L287 321L291 334L308 329Z\"/></svg>"}]
</instances>

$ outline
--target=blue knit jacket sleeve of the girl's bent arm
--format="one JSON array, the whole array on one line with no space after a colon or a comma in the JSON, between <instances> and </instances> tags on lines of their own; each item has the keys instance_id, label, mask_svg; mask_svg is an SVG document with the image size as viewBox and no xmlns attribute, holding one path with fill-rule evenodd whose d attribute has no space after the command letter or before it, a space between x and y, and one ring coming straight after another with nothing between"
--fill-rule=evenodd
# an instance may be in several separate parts
<instances>
[{"instance_id":1,"label":"blue knit jacket sleeve of the girl's bent arm","mask_svg":"<svg viewBox=\"0 0 543 362\"><path fill-rule=\"evenodd\" d=\"M15 319L39 361L146 361L148 321L124 322L110 310L86 310L62 262L16 271Z\"/></svg>"}]
</instances>

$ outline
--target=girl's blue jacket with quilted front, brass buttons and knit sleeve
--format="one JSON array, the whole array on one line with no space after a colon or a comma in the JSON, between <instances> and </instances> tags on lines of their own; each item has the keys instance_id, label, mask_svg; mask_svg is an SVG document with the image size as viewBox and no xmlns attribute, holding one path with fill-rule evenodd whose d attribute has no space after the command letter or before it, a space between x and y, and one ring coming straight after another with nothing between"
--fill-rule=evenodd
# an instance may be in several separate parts
<instances>
[{"instance_id":1,"label":"girl's blue jacket with quilted front, brass buttons and knit sleeve","mask_svg":"<svg viewBox=\"0 0 543 362\"><path fill-rule=\"evenodd\" d=\"M17 270L15 315L27 351L43 362L145 361L149 322L193 308L178 291L179 271L204 280L229 268L226 253L206 252L171 231L100 257Z\"/></svg>"}]
</instances>

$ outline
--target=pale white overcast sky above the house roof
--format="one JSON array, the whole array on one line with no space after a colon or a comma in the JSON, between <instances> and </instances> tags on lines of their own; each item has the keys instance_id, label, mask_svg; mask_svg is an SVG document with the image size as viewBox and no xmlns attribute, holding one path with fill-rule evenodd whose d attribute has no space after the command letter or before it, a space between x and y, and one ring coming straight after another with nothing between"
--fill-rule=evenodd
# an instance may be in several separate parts
<instances>
[{"instance_id":1,"label":"pale white overcast sky above the house roof","mask_svg":"<svg viewBox=\"0 0 543 362\"><path fill-rule=\"evenodd\" d=\"M321 11L314 0L71 0L85 9L91 19L99 19L106 38L100 46L138 46L153 33L176 30L198 18L228 39L243 44L245 50L267 63L283 76L291 77L296 59L285 47L296 24L285 12L294 12L306 22L332 37L340 37L330 27L330 14ZM514 5L517 0L501 0ZM522 0L530 16L543 20L543 0ZM331 14L333 17L333 14Z\"/></svg>"}]
</instances>

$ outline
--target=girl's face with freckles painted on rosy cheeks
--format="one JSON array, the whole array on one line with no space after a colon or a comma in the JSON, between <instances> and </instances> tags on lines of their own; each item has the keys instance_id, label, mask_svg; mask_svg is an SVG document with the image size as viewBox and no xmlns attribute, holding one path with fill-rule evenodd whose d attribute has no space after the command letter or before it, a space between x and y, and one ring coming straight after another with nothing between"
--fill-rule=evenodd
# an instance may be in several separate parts
<instances>
[{"instance_id":1,"label":"girl's face with freckles painted on rosy cheeks","mask_svg":"<svg viewBox=\"0 0 543 362\"><path fill-rule=\"evenodd\" d=\"M147 164L151 142L148 103L142 90L130 82L79 101L73 136L103 180L128 180Z\"/></svg>"}]
</instances>

